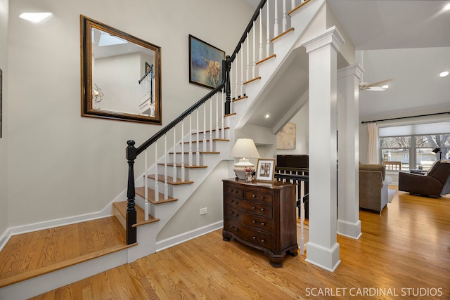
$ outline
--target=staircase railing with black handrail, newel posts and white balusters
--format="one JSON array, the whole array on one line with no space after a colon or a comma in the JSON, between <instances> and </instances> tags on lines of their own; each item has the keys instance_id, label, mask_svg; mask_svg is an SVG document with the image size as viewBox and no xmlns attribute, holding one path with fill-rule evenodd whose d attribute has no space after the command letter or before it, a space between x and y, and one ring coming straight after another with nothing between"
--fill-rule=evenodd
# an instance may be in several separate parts
<instances>
[{"instance_id":1,"label":"staircase railing with black handrail, newel posts and white balusters","mask_svg":"<svg viewBox=\"0 0 450 300\"><path fill-rule=\"evenodd\" d=\"M145 152L145 178L144 178L144 191L145 191L145 211L146 218L148 218L148 183L147 183L147 152L150 151L149 147L154 145L153 152L155 157L155 191L154 201L159 200L159 185L158 185L158 162L164 165L162 178L164 178L164 199L168 197L168 162L167 157L169 155L167 150L167 134L173 136L173 147L170 151L173 152L173 164L172 167L172 181L176 181L177 174L180 175L180 180L185 181L185 167L184 162L185 154L188 155L188 166L194 164L198 165L200 162L200 142L203 142L203 151L207 151L207 142L209 142L210 151L212 151L212 141L214 140L212 132L215 131L216 139L224 137L224 115L229 115L232 112L231 97L233 100L238 100L245 96L245 84L257 79L258 70L257 65L273 56L271 43L288 30L290 26L290 20L288 18L289 6L290 11L295 11L298 5L304 4L310 0L272 0L260 1L255 13L252 15L252 19L248 23L242 37L240 38L236 49L231 56L227 56L226 60L222 61L222 81L216 89L212 90L205 97L198 100L197 103L192 105L188 110L183 112L179 117L174 119L170 124L158 131L154 136L149 138L139 147L135 148L134 141L127 141L127 161L129 165L128 172L128 186L127 186L127 214L126 214L126 230L127 230L127 243L132 244L136 242L136 227L133 226L136 223L136 209L135 209L135 186L134 186L134 161L141 152ZM296 6L297 5L297 6ZM233 72L231 72L233 69ZM233 89L231 85L233 84ZM215 96L215 97L214 97ZM215 102L214 99L215 98ZM210 101L208 101L210 100ZM207 104L209 103L209 111L207 114ZM221 107L221 108L219 108ZM203 112L203 116L200 114ZM215 116L212 113L216 112ZM221 116L219 117L219 111ZM195 127L193 127L193 119ZM188 134L185 136L184 126L185 122L188 122ZM200 124L203 123L203 131L200 130ZM209 128L208 125L209 124ZM215 124L215 126L213 125ZM181 128L178 128L179 126ZM177 142L177 131L180 138L180 143ZM181 131L181 133L180 133ZM220 131L220 134L219 134ZM195 133L195 141L192 141L193 133ZM203 133L203 134L201 134ZM209 136L207 136L209 133ZM200 136L201 135L201 136ZM160 141L162 139L164 141ZM188 141L186 141L188 140ZM158 156L158 143L164 143L162 157ZM188 145L188 150L185 152L184 144ZM193 144L195 143L195 150ZM179 149L181 148L181 149ZM181 162L176 164L176 150L181 150ZM172 153L171 152L171 153ZM181 171L177 171L177 167L180 167Z\"/></svg>"}]
</instances>

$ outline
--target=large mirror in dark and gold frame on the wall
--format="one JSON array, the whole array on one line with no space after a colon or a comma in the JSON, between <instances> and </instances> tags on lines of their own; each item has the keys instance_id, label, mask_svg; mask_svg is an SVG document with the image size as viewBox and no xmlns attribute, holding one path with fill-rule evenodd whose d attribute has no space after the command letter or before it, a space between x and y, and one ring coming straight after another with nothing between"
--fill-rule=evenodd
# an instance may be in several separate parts
<instances>
[{"instance_id":1,"label":"large mirror in dark and gold frame on the wall","mask_svg":"<svg viewBox=\"0 0 450 300\"><path fill-rule=\"evenodd\" d=\"M80 20L82 116L161 124L161 48Z\"/></svg>"}]
</instances>

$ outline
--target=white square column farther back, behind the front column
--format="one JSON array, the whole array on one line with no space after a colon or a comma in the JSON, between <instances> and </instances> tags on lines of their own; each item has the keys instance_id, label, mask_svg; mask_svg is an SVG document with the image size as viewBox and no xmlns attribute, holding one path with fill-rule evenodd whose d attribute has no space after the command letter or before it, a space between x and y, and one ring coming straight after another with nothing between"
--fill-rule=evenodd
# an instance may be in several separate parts
<instances>
[{"instance_id":1,"label":"white square column farther back, behind the front column","mask_svg":"<svg viewBox=\"0 0 450 300\"><path fill-rule=\"evenodd\" d=\"M338 70L338 234L358 239L359 64Z\"/></svg>"}]
</instances>

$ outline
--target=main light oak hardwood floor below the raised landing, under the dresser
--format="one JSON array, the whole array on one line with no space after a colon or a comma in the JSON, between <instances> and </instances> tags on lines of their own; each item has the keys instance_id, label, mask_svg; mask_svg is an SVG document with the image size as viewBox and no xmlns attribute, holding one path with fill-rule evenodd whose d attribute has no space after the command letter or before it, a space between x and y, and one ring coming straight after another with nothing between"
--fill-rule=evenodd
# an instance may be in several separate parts
<instances>
[{"instance_id":1,"label":"main light oak hardwood floor below the raised landing, under the dresser","mask_svg":"<svg viewBox=\"0 0 450 300\"><path fill-rule=\"evenodd\" d=\"M300 255L272 268L217 230L33 299L450 299L449 196L397 192L381 214L361 211L334 273Z\"/></svg>"}]
</instances>

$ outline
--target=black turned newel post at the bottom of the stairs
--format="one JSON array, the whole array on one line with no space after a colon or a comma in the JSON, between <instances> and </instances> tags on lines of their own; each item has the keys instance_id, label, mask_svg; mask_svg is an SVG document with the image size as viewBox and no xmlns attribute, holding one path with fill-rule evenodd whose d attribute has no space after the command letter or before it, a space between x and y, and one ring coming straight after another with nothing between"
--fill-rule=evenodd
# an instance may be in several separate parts
<instances>
[{"instance_id":1,"label":"black turned newel post at the bottom of the stairs","mask_svg":"<svg viewBox=\"0 0 450 300\"><path fill-rule=\"evenodd\" d=\"M127 189L127 244L134 244L137 240L136 237L136 209L134 208L134 197L136 197L134 190L134 159L136 159L137 151L134 148L134 141L127 141L127 160L128 160L128 189Z\"/></svg>"}]
</instances>

